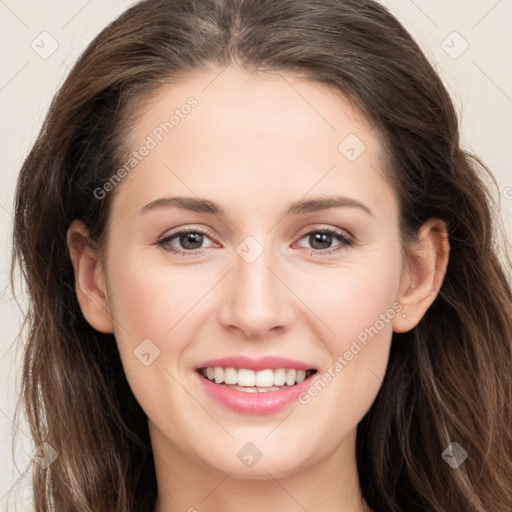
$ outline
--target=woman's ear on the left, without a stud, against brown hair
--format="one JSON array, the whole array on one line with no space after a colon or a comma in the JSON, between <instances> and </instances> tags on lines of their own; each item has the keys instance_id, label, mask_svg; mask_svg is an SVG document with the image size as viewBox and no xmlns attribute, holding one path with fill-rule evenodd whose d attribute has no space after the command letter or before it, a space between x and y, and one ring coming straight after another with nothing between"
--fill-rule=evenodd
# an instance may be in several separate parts
<instances>
[{"instance_id":1,"label":"woman's ear on the left, without a stud, against brown hair","mask_svg":"<svg viewBox=\"0 0 512 512\"><path fill-rule=\"evenodd\" d=\"M81 220L71 223L67 243L75 271L76 296L84 317L97 331L114 332L103 264Z\"/></svg>"}]
</instances>

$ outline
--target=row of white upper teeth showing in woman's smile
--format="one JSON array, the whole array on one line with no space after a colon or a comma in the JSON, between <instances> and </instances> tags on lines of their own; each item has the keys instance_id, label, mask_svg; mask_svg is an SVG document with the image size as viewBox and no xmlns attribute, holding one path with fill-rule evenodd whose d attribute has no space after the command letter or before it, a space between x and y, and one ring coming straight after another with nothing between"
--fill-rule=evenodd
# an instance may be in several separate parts
<instances>
[{"instance_id":1,"label":"row of white upper teeth showing in woman's smile","mask_svg":"<svg viewBox=\"0 0 512 512\"><path fill-rule=\"evenodd\" d=\"M300 384L311 375L308 370L294 368L278 368L276 370L253 371L247 368L222 368L220 366L202 369L202 374L216 384L226 384L234 389L248 393L277 391L280 386L294 386Z\"/></svg>"}]
</instances>

